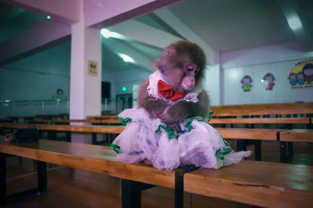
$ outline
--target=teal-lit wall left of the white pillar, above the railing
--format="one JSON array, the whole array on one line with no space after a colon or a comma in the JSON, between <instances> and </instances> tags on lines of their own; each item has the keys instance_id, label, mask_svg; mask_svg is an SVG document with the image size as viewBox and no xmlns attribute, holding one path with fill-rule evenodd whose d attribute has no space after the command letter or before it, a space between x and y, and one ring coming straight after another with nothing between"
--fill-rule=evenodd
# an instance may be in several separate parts
<instances>
[{"instance_id":1,"label":"teal-lit wall left of the white pillar, above the railing","mask_svg":"<svg viewBox=\"0 0 313 208\"><path fill-rule=\"evenodd\" d=\"M0 68L0 100L52 99L58 88L69 96L70 55L57 46Z\"/></svg>"}]
</instances>

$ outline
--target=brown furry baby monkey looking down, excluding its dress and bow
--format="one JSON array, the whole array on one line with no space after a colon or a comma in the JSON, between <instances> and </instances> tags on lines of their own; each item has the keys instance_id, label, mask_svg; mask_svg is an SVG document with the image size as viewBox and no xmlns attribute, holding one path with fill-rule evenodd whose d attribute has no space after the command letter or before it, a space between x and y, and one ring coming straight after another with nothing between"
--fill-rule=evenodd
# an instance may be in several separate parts
<instances>
[{"instance_id":1,"label":"brown furry baby monkey looking down, excluding its dress and bow","mask_svg":"<svg viewBox=\"0 0 313 208\"><path fill-rule=\"evenodd\" d=\"M149 78L146 78L138 92L138 107L144 108L153 118L160 118L167 126L180 131L179 120L195 116L202 118L209 115L210 99L202 89L206 70L206 55L197 44L188 41L178 41L169 45L161 56L152 62L156 71L164 75L165 84L171 87L164 99L155 99L147 88ZM162 85L158 81L158 86ZM197 92L197 93L196 93ZM186 99L171 100L175 94L196 93L197 102ZM186 95L187 96L187 95Z\"/></svg>"}]
</instances>

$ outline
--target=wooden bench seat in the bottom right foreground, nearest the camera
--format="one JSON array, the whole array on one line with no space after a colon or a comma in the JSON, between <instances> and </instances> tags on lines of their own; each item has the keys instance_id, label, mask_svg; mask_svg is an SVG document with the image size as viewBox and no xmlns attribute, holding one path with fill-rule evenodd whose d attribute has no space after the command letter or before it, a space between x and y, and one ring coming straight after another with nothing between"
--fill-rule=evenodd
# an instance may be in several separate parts
<instances>
[{"instance_id":1,"label":"wooden bench seat in the bottom right foreground, nearest the camera","mask_svg":"<svg viewBox=\"0 0 313 208\"><path fill-rule=\"evenodd\" d=\"M266 208L312 208L313 166L242 161L184 175L184 190Z\"/></svg>"}]
</instances>

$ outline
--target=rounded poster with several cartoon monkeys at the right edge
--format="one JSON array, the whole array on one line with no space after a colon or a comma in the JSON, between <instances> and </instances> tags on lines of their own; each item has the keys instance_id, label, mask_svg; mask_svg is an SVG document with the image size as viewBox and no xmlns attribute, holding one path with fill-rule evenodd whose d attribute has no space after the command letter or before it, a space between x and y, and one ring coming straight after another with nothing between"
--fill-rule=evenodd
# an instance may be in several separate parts
<instances>
[{"instance_id":1,"label":"rounded poster with several cartoon monkeys at the right edge","mask_svg":"<svg viewBox=\"0 0 313 208\"><path fill-rule=\"evenodd\" d=\"M289 71L291 89L313 87L313 59L302 60Z\"/></svg>"}]
</instances>

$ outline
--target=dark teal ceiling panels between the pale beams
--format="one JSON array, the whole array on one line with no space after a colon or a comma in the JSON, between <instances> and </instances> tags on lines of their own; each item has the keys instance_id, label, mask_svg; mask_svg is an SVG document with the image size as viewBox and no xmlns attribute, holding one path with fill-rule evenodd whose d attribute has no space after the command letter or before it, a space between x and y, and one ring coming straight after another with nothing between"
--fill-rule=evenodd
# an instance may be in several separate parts
<instances>
[{"instance_id":1,"label":"dark teal ceiling panels between the pale beams","mask_svg":"<svg viewBox=\"0 0 313 208\"><path fill-rule=\"evenodd\" d=\"M298 0L298 3L303 11L299 16L312 25L313 1ZM297 41L277 0L185 0L169 6L168 9L208 46L221 52ZM13 25L23 31L46 18L0 2L0 33L4 26ZM160 21L153 13L134 20L171 35L184 37L172 25ZM313 26L308 30L312 35ZM17 31L10 34L13 36L16 33ZM5 39L0 39L1 41ZM130 39L119 41L151 61L160 55L162 49ZM70 50L71 44L69 42L62 47ZM105 45L102 47L102 55L105 69L140 68L124 62Z\"/></svg>"}]
</instances>

